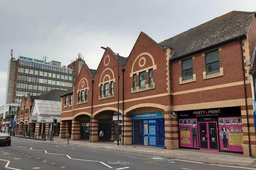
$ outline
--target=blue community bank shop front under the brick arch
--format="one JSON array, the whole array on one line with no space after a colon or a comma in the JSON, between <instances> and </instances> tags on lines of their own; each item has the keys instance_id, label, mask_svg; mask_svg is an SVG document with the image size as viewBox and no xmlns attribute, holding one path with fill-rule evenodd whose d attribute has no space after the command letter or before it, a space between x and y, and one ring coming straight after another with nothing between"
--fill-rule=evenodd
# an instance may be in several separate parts
<instances>
[{"instance_id":1,"label":"blue community bank shop front under the brick arch","mask_svg":"<svg viewBox=\"0 0 256 170\"><path fill-rule=\"evenodd\" d=\"M132 143L163 147L164 115L161 112L132 114Z\"/></svg>"}]
</instances>

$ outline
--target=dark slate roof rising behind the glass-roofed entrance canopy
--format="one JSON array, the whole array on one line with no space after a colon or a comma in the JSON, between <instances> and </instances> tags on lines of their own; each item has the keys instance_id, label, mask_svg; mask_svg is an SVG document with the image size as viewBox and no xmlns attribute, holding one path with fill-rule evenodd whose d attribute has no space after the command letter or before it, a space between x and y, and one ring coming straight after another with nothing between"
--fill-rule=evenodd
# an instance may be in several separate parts
<instances>
[{"instance_id":1,"label":"dark slate roof rising behind the glass-roofed entrance canopy","mask_svg":"<svg viewBox=\"0 0 256 170\"><path fill-rule=\"evenodd\" d=\"M49 101L58 101L61 102L61 97L64 92L67 90L58 90L58 89L53 89L49 92L44 92L40 96L38 96L37 100L49 100Z\"/></svg>"}]
</instances>

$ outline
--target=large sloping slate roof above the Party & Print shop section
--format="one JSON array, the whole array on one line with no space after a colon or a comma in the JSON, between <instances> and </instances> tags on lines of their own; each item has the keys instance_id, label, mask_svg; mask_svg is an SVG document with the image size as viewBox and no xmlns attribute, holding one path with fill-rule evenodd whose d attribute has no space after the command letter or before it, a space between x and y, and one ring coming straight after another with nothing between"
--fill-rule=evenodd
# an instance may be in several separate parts
<instances>
[{"instance_id":1,"label":"large sloping slate roof above the Party & Print shop section","mask_svg":"<svg viewBox=\"0 0 256 170\"><path fill-rule=\"evenodd\" d=\"M171 60L246 35L255 12L232 11L159 43L174 49Z\"/></svg>"}]
</instances>

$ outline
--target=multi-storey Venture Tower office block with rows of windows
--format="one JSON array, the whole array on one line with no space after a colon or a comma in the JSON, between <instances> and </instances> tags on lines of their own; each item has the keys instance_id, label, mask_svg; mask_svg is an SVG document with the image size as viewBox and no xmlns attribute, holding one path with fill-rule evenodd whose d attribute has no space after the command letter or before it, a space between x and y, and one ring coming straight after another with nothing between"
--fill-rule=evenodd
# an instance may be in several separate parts
<instances>
[{"instance_id":1,"label":"multi-storey Venture Tower office block with rows of windows","mask_svg":"<svg viewBox=\"0 0 256 170\"><path fill-rule=\"evenodd\" d=\"M10 59L2 125L5 132L10 133L10 126L17 123L11 121L16 120L23 96L39 96L52 89L67 90L73 86L75 70L60 64L22 56Z\"/></svg>"}]
</instances>

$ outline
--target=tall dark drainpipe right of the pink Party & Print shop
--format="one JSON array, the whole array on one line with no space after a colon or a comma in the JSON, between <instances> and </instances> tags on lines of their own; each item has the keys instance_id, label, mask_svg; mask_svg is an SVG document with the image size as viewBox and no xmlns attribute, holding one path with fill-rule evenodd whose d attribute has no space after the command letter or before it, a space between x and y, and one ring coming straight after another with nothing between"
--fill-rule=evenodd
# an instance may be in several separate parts
<instances>
[{"instance_id":1,"label":"tall dark drainpipe right of the pink Party & Print shop","mask_svg":"<svg viewBox=\"0 0 256 170\"><path fill-rule=\"evenodd\" d=\"M250 139L250 125L249 125L249 115L248 115L248 106L247 106L246 82L245 82L245 69L244 69L244 59L243 59L243 47L242 47L242 40L240 38L238 38L238 40L240 41L241 59L242 59L243 76L244 76L244 98L245 98L247 130L248 130L248 140L249 140L249 156L252 156L251 139Z\"/></svg>"}]
</instances>

